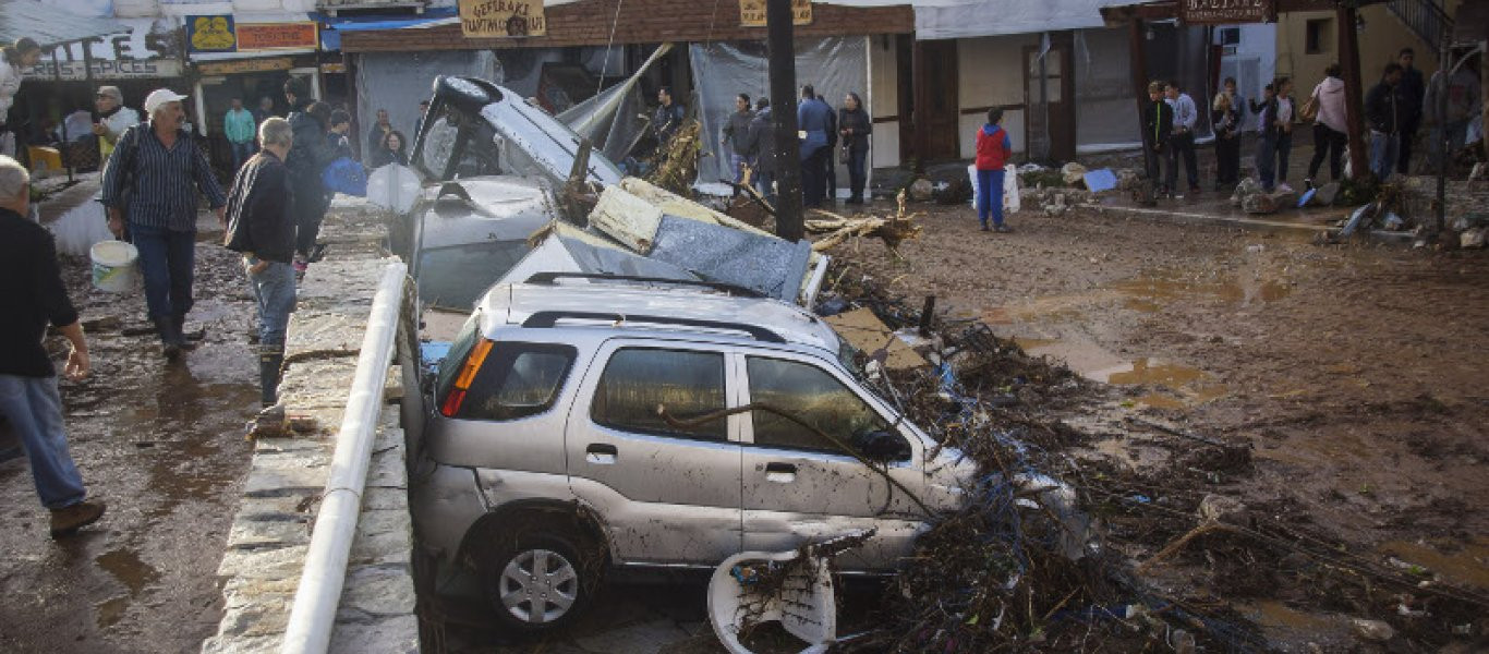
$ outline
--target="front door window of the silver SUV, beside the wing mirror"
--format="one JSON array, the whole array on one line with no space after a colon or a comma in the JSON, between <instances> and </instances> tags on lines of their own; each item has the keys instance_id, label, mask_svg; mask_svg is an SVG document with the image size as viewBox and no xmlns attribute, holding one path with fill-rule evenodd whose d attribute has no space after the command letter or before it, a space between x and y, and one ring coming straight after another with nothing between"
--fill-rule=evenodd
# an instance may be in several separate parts
<instances>
[{"instance_id":1,"label":"front door window of the silver SUV, beside the wing mirror","mask_svg":"<svg viewBox=\"0 0 1489 654\"><path fill-rule=\"evenodd\" d=\"M814 365L750 356L746 369L750 404L779 408L847 444L855 444L855 436L889 431L858 393ZM750 411L750 420L756 445L846 453L831 439L779 414L756 410Z\"/></svg>"}]
</instances>

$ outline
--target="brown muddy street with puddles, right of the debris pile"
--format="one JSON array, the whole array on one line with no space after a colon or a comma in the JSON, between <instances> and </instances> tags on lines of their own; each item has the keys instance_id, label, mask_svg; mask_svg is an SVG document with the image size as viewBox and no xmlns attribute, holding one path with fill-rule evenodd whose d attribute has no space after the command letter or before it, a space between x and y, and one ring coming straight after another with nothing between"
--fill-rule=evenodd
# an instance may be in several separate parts
<instances>
[{"instance_id":1,"label":"brown muddy street with puddles, right of the debris pile","mask_svg":"<svg viewBox=\"0 0 1489 654\"><path fill-rule=\"evenodd\" d=\"M1324 582L1321 569L1345 568L1301 566L1291 545L1205 538L1148 569L1160 588L1203 597L1284 651L1362 647L1356 617L1409 635L1394 644L1403 651L1483 645L1446 633L1489 605L1483 252L1319 247L1289 231L1096 212L1024 212L1014 234L987 234L968 209L911 209L926 212L925 231L899 259L876 240L832 253L916 307L935 295L948 320L983 320L1114 384L1036 408L1083 432L1071 453L1099 486L1123 478L1135 502L1182 511L1203 495L1236 498L1251 524L1291 542L1316 536L1345 568L1406 571L1468 600L1370 572ZM1206 441L1245 450L1205 462ZM1197 524L1191 512L1115 515L1111 530L1144 562ZM1425 605L1438 621L1412 615Z\"/></svg>"}]
</instances>

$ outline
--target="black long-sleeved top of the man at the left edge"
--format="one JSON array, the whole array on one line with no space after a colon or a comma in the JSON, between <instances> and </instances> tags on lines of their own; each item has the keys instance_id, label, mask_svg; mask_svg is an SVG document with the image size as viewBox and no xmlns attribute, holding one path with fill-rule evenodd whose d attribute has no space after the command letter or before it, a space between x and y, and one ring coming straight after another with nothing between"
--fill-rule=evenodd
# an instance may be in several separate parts
<instances>
[{"instance_id":1,"label":"black long-sleeved top of the man at the left edge","mask_svg":"<svg viewBox=\"0 0 1489 654\"><path fill-rule=\"evenodd\" d=\"M52 234L19 213L0 209L0 374L52 377L52 358L42 347L46 325L77 322L67 299Z\"/></svg>"}]
</instances>

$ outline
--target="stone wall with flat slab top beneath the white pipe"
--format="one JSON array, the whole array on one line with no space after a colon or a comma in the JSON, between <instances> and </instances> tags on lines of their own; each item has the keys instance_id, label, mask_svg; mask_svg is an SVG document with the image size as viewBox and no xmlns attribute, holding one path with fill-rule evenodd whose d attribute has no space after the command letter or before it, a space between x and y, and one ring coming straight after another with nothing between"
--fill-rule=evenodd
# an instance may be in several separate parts
<instances>
[{"instance_id":1,"label":"stone wall with flat slab top beneath the white pipe","mask_svg":"<svg viewBox=\"0 0 1489 654\"><path fill-rule=\"evenodd\" d=\"M310 547L337 432L351 389L377 282L390 258L386 229L359 203L332 207L322 229L326 258L311 264L286 338L281 404L314 419L314 431L255 442L243 502L217 577L225 614L203 653L278 653ZM386 398L395 402L398 368ZM398 407L380 416L362 514L332 633L334 653L418 651L409 565L404 431Z\"/></svg>"}]
</instances>

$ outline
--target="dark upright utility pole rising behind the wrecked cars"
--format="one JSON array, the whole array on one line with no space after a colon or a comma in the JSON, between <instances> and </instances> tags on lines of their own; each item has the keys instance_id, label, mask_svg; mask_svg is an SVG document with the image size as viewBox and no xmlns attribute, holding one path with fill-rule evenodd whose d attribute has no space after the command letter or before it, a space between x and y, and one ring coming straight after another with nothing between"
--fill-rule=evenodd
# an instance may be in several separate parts
<instances>
[{"instance_id":1,"label":"dark upright utility pole rising behind the wrecked cars","mask_svg":"<svg viewBox=\"0 0 1489 654\"><path fill-rule=\"evenodd\" d=\"M776 235L798 241L801 218L801 155L797 137L797 48L791 0L765 0L770 48L771 122L776 127Z\"/></svg>"}]
</instances>

